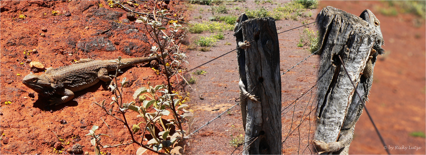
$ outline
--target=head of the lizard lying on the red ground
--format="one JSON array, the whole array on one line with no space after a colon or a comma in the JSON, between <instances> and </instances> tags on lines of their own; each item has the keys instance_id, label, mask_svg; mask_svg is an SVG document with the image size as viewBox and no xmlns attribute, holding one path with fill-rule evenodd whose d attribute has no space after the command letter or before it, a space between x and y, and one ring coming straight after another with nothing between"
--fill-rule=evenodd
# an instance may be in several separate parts
<instances>
[{"instance_id":1,"label":"head of the lizard lying on the red ground","mask_svg":"<svg viewBox=\"0 0 426 155\"><path fill-rule=\"evenodd\" d=\"M43 75L35 75L31 73L23 78L22 83L43 96L54 94L55 88L53 86L55 85Z\"/></svg>"}]
</instances>

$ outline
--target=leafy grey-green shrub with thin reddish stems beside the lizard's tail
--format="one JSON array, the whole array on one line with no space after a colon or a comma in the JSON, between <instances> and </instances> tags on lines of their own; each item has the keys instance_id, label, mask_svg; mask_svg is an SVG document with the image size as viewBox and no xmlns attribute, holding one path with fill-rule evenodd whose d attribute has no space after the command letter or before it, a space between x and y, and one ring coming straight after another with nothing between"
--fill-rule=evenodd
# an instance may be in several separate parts
<instances>
[{"instance_id":1,"label":"leafy grey-green shrub with thin reddish stems beside the lizard's tail","mask_svg":"<svg viewBox=\"0 0 426 155\"><path fill-rule=\"evenodd\" d=\"M185 133L185 131L182 130L181 120L192 115L190 111L183 109L188 107L188 105L184 104L186 97L183 97L187 94L176 93L170 83L170 78L172 76L178 77L179 75L183 80L185 80L180 72L182 72L184 67L183 63L188 64L188 61L185 60L187 58L185 53L182 53L179 49L181 42L187 38L186 33L188 28L177 24L178 22L171 22L169 23L171 25L166 28L164 25L167 24L168 20L162 18L170 15L167 13L167 10L157 11L155 14L159 17L158 20L140 17L136 19L135 22L142 24L142 27L147 30L147 36L151 37L153 40L153 44L155 45L151 47L150 56L155 56L160 61L162 66L156 71L157 74L164 75L167 85L157 85L153 87L150 85L150 82L148 82L147 87L139 88L133 94L133 100L136 100L137 102L124 102L123 98L125 98L125 96L123 96L123 86L125 86L129 81L126 77L124 77L121 82L119 82L117 75L121 72L121 70L118 69L119 66L125 64L121 62L120 56L117 59L110 61L118 64L115 75L111 75L113 80L109 85L109 88L113 93L113 97L110 99L112 101L109 104L105 103L106 100L101 101L101 103L94 103L101 107L105 113L123 123L132 141L124 144L102 145L100 137L107 135L95 134L95 130L98 129L98 126L93 126L92 130L89 130L90 133L86 136L92 136L91 143L95 146L96 154L100 153L100 150L103 148L118 147L129 144L137 144L140 146L137 149L136 154L142 154L146 150L153 151L157 154L161 154L161 152L170 154L170 152L173 152L174 149L176 150L179 148L176 147L176 144L181 141ZM113 111L119 114L115 115ZM135 112L138 116L141 116L143 119L142 122L130 124L130 122L127 121L127 118L129 118L128 115L131 112ZM178 113L181 113L181 115ZM162 118L169 115L172 115L173 119ZM178 129L171 130L175 127ZM160 132L158 132L158 130L160 130ZM138 138L139 136L135 136L138 132L142 133L141 138ZM146 145L142 144L142 141L147 138L145 137L145 133L149 134L150 137L153 137L147 141Z\"/></svg>"}]
</instances>

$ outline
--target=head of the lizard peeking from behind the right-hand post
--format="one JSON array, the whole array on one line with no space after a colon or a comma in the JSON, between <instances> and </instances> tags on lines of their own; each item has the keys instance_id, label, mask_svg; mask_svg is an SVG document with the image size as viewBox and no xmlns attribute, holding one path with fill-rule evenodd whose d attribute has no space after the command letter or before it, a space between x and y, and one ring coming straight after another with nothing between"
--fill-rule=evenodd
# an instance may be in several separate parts
<instances>
[{"instance_id":1,"label":"head of the lizard peeking from behind the right-hand post","mask_svg":"<svg viewBox=\"0 0 426 155\"><path fill-rule=\"evenodd\" d=\"M374 16L374 14L368 9L364 10L363 13L361 13L360 18L367 21L368 24L370 24L376 29L378 36L376 42L373 45L373 48L377 51L377 55L384 54L385 50L383 50L382 45L385 43L385 41L383 40L382 31L380 30L379 19L377 19L376 16Z\"/></svg>"}]
</instances>

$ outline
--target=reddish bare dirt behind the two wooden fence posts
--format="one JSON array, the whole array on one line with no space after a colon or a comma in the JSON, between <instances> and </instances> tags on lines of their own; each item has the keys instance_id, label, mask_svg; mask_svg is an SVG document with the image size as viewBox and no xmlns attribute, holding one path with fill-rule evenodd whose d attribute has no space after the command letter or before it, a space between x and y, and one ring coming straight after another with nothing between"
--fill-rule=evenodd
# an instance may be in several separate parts
<instances>
[{"instance_id":1,"label":"reddish bare dirt behind the two wooden fence posts","mask_svg":"<svg viewBox=\"0 0 426 155\"><path fill-rule=\"evenodd\" d=\"M286 3L287 1L274 1L276 3ZM244 3L244 4L243 4ZM265 8L274 8L271 3L256 5L253 1L236 3L235 6L245 9L254 9L256 6ZM209 6L194 5L192 17L202 16L202 19L194 19L197 22L208 20L211 13L205 13ZM359 15L365 9L370 9L381 22L381 30L385 39L386 54L379 56L380 61L374 68L374 83L370 91L367 108L370 111L375 124L379 128L388 147L394 147L392 154L425 154L425 138L411 136L414 132L425 133L425 25L424 19L420 27L415 27L413 20L415 17L409 14L399 14L396 17L387 17L379 13L378 8L383 7L382 2L378 1L320 1L318 9L314 10L314 16L325 6L334 6L349 13ZM242 11L233 11L230 6L228 14L239 15ZM204 13L200 13L200 8ZM309 18L308 18L309 19ZM302 21L305 19L301 19ZM300 21L278 20L276 26L278 30L287 30L302 25ZM310 29L315 26L308 26ZM225 40L216 43L215 47L209 52L193 51L192 68L206 62L218 55L235 48L235 38L231 31L225 32ZM279 34L280 41L280 61L281 69L285 70L296 64L307 55L308 50L296 47L299 34L302 28L292 30L290 33ZM194 34L193 36L209 36L211 33ZM224 45L230 42L232 45ZM190 125L190 130L195 130L210 121L219 113L234 105L234 100L238 94L238 70L236 69L236 54L230 53L216 61L206 64L200 69L207 71L206 75L193 75L198 78L196 84L192 85L191 95L193 98L193 107L197 108L196 117ZM197 63L198 62L198 63ZM308 58L308 61L296 66L288 74L282 75L282 105L285 108L293 102L300 93L307 91L316 81L317 64L319 57L317 55ZM225 72L224 72L225 71ZM302 77L301 77L302 76ZM202 95L204 100L200 100ZM315 94L313 94L315 96ZM296 106L295 116L300 120L303 109L306 108L308 99L301 101L303 104ZM311 101L312 102L312 101ZM308 105L310 105L309 103ZM307 107L311 108L310 106ZM312 108L315 108L315 104ZM215 111L213 111L215 110ZM291 111L282 118L282 136L283 140L287 136L289 126L292 121ZM312 117L311 117L312 118ZM293 124L292 130L294 130ZM311 129L309 128L311 127ZM313 134L314 120L311 120L311 126L308 122L301 125L299 132L302 136L299 138L298 130L290 134L289 138L283 144L283 154L313 154L314 151L305 149L306 144L311 141ZM310 131L310 132L309 132ZM225 113L220 119L216 119L199 133L195 133L189 140L189 154L230 154L235 147L230 146L230 141L236 139L240 134L244 135L241 122L241 112L239 106ZM300 151L298 152L299 141ZM396 148L400 147L400 148ZM404 147L404 149L402 149ZM405 148L406 147L406 148ZM411 148L409 148L411 147ZM419 149L413 149L413 148ZM242 151L240 147L236 153ZM386 154L383 145L380 142L368 116L364 113L357 123L353 142L351 143L350 154Z\"/></svg>"}]
</instances>

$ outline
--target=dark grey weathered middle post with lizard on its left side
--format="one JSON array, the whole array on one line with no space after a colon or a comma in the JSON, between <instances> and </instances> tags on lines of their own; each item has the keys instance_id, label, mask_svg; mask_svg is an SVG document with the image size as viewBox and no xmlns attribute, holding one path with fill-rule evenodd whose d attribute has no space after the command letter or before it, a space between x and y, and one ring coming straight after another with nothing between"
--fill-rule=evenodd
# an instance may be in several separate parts
<instances>
[{"instance_id":1,"label":"dark grey weathered middle post with lizard on its left side","mask_svg":"<svg viewBox=\"0 0 426 155\"><path fill-rule=\"evenodd\" d=\"M242 23L242 33L245 41L254 41L245 49L247 90L260 98L260 103L247 102L248 142L243 154L281 154L281 77L275 20L248 19Z\"/></svg>"}]
</instances>

